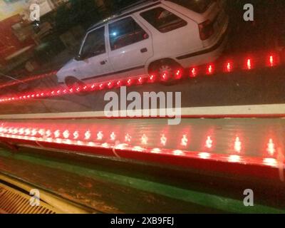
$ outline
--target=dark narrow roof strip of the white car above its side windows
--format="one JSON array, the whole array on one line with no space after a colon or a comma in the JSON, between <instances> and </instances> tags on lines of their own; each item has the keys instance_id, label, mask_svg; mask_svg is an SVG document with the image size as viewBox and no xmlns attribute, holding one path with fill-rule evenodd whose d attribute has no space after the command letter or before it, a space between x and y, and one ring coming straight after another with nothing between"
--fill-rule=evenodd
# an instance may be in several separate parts
<instances>
[{"instance_id":1,"label":"dark narrow roof strip of the white car above its side windows","mask_svg":"<svg viewBox=\"0 0 285 228\"><path fill-rule=\"evenodd\" d=\"M87 31L91 31L94 28L98 28L100 26L103 26L104 24L107 24L110 21L113 21L115 19L118 19L123 16L127 16L128 14L133 14L135 11L140 11L142 9L155 6L157 4L160 4L162 0L142 0L138 1L135 4L131 4L130 6L127 6L123 9L120 9L120 11L113 14L113 16L109 16L107 19L103 19L102 21L99 21L98 23L94 24L93 26L90 26Z\"/></svg>"}]
</instances>

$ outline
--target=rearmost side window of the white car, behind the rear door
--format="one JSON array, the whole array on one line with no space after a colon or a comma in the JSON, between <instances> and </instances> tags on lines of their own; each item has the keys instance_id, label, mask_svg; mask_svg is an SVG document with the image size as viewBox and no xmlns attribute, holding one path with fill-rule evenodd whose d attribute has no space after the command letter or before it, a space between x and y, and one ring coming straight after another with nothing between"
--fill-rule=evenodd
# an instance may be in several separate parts
<instances>
[{"instance_id":1,"label":"rearmost side window of the white car, behind the rear door","mask_svg":"<svg viewBox=\"0 0 285 228\"><path fill-rule=\"evenodd\" d=\"M187 25L186 21L162 7L142 12L140 16L161 33L167 33Z\"/></svg>"}]
</instances>

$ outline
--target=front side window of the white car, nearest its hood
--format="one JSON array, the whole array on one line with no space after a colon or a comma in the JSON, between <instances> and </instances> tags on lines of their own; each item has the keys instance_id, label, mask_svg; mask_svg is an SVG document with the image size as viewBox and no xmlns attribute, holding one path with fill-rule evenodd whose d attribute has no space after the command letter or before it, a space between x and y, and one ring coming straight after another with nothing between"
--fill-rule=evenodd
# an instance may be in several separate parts
<instances>
[{"instance_id":1,"label":"front side window of the white car, nearest its hood","mask_svg":"<svg viewBox=\"0 0 285 228\"><path fill-rule=\"evenodd\" d=\"M81 58L91 58L106 52L105 48L105 26L91 31L86 36L83 48L81 49Z\"/></svg>"}]
</instances>

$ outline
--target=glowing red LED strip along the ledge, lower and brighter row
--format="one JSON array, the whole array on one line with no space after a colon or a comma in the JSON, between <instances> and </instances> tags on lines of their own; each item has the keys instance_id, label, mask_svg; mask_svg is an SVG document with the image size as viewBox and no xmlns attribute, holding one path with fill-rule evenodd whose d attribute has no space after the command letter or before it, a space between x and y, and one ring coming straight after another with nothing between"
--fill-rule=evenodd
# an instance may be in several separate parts
<instances>
[{"instance_id":1,"label":"glowing red LED strip along the ledge, lower and brighter row","mask_svg":"<svg viewBox=\"0 0 285 228\"><path fill-rule=\"evenodd\" d=\"M80 130L78 130L80 128ZM214 160L219 162L231 162L249 165L265 165L279 167L276 159L277 145L272 138L267 139L262 156L251 157L245 155L243 140L236 136L232 141L231 152L217 154L212 149L217 146L217 139L212 135L204 138L204 149L191 151L187 148L192 144L190 135L182 134L175 148L170 147L173 137L167 138L167 134L159 133L157 141L153 142L151 135L147 133L121 133L118 126L115 130L95 124L40 124L40 123L0 123L0 140L9 142L18 140L17 144L36 145L37 147L54 147L56 149L97 153L97 149L103 149L102 155L124 157L124 152L138 152L155 155L169 155L174 157L196 158L202 160ZM108 130L107 130L108 129ZM150 142L151 141L151 142ZM71 147L70 147L71 146ZM106 151L108 150L108 152ZM283 161L282 161L283 162Z\"/></svg>"}]
</instances>

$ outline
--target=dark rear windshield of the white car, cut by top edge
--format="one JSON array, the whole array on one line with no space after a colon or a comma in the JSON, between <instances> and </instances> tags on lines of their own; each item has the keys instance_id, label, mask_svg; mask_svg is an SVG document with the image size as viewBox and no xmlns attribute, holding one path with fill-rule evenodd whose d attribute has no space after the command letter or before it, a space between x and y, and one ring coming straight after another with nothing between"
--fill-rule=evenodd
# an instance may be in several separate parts
<instances>
[{"instance_id":1,"label":"dark rear windshield of the white car, cut by top edge","mask_svg":"<svg viewBox=\"0 0 285 228\"><path fill-rule=\"evenodd\" d=\"M184 6L187 9L195 11L199 14L204 13L204 11L206 11L213 2L213 0L168 0L168 1L172 1L175 4Z\"/></svg>"}]
</instances>

